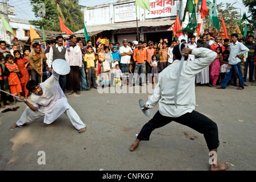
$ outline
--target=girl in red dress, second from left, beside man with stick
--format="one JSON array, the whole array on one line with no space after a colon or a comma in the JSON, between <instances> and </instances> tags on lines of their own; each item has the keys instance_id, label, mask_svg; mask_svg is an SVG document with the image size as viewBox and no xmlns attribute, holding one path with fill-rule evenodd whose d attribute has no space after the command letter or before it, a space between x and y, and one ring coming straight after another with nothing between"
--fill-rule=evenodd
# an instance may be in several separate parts
<instances>
[{"instance_id":1,"label":"girl in red dress, second from left, beside man with stick","mask_svg":"<svg viewBox=\"0 0 256 182\"><path fill-rule=\"evenodd\" d=\"M26 68L27 60L24 59L21 55L20 51L14 51L14 63L18 65L19 72L21 73L22 77L19 77L19 80L21 80L21 87L22 87L22 96L25 96L25 99L27 99L27 95L29 94L29 90L27 90L26 85L29 81L29 72Z\"/></svg>"}]
</instances>

